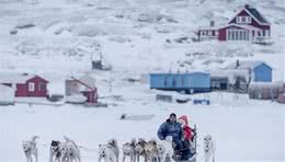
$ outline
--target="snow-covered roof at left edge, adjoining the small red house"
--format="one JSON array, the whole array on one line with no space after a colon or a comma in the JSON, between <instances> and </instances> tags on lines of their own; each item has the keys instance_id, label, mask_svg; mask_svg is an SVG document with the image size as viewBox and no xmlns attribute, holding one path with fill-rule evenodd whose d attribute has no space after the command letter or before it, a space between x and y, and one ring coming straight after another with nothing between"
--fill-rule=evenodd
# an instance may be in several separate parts
<instances>
[{"instance_id":1,"label":"snow-covered roof at left edge, adjoining the small red house","mask_svg":"<svg viewBox=\"0 0 285 162\"><path fill-rule=\"evenodd\" d=\"M25 83L29 79L34 77L35 74L30 73L0 72L0 83Z\"/></svg>"}]
</instances>

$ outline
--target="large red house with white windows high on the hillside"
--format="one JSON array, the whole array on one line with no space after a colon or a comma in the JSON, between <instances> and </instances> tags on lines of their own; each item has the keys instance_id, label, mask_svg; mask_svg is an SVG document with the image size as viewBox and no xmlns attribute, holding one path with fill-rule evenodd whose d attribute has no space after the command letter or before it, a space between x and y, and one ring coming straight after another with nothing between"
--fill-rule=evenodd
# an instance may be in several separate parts
<instances>
[{"instance_id":1,"label":"large red house with white windows high on the hillside","mask_svg":"<svg viewBox=\"0 0 285 162\"><path fill-rule=\"evenodd\" d=\"M210 26L200 28L197 35L198 40L263 43L271 37L271 24L256 9L246 4L227 25L215 27L214 22L210 22Z\"/></svg>"}]
</instances>

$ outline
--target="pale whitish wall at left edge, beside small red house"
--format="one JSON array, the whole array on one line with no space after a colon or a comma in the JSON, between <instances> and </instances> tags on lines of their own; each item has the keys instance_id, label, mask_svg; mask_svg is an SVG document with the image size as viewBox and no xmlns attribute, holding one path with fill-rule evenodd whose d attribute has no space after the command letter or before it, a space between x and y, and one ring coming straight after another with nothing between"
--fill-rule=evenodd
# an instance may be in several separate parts
<instances>
[{"instance_id":1,"label":"pale whitish wall at left edge, beside small red house","mask_svg":"<svg viewBox=\"0 0 285 162\"><path fill-rule=\"evenodd\" d=\"M0 84L0 105L14 104L15 91L13 88Z\"/></svg>"}]
</instances>

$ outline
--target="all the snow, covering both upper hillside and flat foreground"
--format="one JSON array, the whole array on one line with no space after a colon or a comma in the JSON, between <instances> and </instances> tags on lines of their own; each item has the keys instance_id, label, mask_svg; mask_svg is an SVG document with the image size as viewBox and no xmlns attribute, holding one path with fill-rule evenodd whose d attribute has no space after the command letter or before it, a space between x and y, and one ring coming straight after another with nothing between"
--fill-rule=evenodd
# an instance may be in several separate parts
<instances>
[{"instance_id":1,"label":"all the snow, covering both upper hillside and flat foreground","mask_svg":"<svg viewBox=\"0 0 285 162\"><path fill-rule=\"evenodd\" d=\"M200 26L210 20L216 25L227 23L244 3L253 4L272 23L273 45L191 42ZM210 106L156 103L157 91L126 81L151 71L217 70L236 59L263 60L273 67L274 81L284 81L284 0L0 0L0 28L1 71L44 76L53 94L64 93L66 76L88 72L96 78L101 100L111 104L106 109L0 107L0 162L25 160L21 141L33 135L41 136L42 144L66 135L91 149L113 137L121 144L134 137L155 138L172 112L191 116L197 125L200 161L201 140L207 132L217 140L217 161L285 161L284 105L248 96L232 101L228 93L191 96L212 97ZM15 31L16 35L10 34ZM181 37L190 40L175 43ZM91 55L99 57L98 44L112 72L90 71ZM110 95L122 99L105 97ZM123 113L155 118L118 120ZM48 147L38 147L39 160L47 161ZM96 161L94 150L82 154L83 161Z\"/></svg>"}]
</instances>

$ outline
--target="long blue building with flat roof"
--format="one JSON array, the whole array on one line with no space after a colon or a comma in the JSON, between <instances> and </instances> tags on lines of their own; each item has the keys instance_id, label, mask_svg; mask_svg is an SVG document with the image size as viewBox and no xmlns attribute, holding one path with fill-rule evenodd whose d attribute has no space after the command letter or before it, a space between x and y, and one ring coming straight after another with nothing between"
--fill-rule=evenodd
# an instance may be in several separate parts
<instances>
[{"instance_id":1,"label":"long blue building with flat roof","mask_svg":"<svg viewBox=\"0 0 285 162\"><path fill-rule=\"evenodd\" d=\"M198 93L210 91L210 77L205 72L150 73L150 89Z\"/></svg>"}]
</instances>

